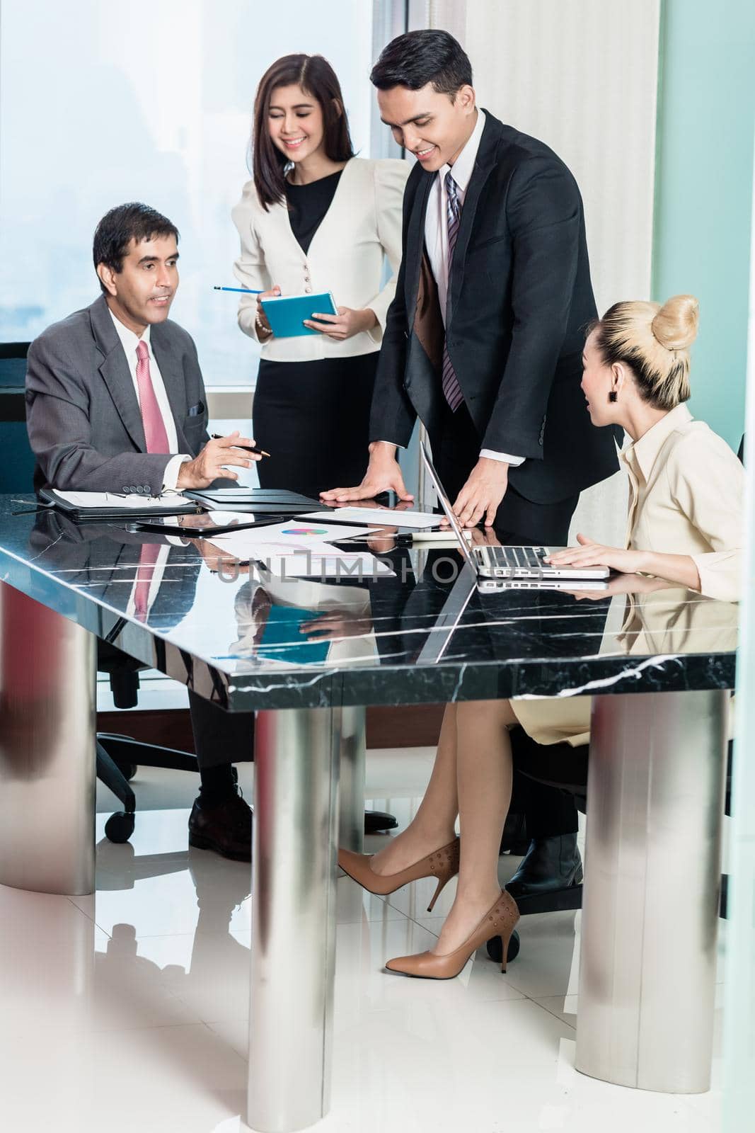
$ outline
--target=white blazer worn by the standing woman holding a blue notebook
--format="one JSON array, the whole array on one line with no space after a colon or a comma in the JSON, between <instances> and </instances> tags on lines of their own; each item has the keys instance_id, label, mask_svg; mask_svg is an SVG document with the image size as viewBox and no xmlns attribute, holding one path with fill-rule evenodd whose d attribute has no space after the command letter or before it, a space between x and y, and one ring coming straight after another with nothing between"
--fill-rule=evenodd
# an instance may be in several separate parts
<instances>
[{"instance_id":1,"label":"white blazer worn by the standing woman holding a blue notebook","mask_svg":"<svg viewBox=\"0 0 755 1133\"><path fill-rule=\"evenodd\" d=\"M275 361L351 358L379 350L385 317L396 288L401 263L402 201L411 165L396 159L346 162L335 196L307 255L291 231L285 202L263 208L254 181L247 181L232 212L241 237L241 255L233 265L243 287L282 295L332 291L336 306L370 307L378 325L342 342L325 334L267 339L261 357ZM384 259L393 278L381 286ZM257 297L242 296L239 326L259 341L255 318Z\"/></svg>"}]
</instances>

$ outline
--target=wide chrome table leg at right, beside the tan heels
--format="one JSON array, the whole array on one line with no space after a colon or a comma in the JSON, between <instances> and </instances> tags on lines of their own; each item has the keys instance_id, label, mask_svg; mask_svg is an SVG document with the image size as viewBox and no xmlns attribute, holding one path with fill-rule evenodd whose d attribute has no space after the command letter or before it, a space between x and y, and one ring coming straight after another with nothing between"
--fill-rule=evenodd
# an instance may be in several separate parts
<instances>
[{"instance_id":1,"label":"wide chrome table leg at right, beside the tan heels","mask_svg":"<svg viewBox=\"0 0 755 1133\"><path fill-rule=\"evenodd\" d=\"M711 1075L728 692L593 698L576 1068Z\"/></svg>"}]
</instances>

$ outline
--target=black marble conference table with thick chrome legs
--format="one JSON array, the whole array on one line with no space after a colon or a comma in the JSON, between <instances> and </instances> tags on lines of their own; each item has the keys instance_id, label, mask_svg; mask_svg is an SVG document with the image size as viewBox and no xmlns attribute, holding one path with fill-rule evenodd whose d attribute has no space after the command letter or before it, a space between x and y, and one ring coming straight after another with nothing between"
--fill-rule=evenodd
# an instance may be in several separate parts
<instances>
[{"instance_id":1,"label":"black marble conference table with thick chrome legs","mask_svg":"<svg viewBox=\"0 0 755 1133\"><path fill-rule=\"evenodd\" d=\"M301 1127L327 1111L344 714L592 693L577 1066L704 1089L736 606L638 579L482 595L451 547L381 550L393 577L272 579L206 540L0 497L0 883L93 887L95 638L257 710L249 1121Z\"/></svg>"}]
</instances>

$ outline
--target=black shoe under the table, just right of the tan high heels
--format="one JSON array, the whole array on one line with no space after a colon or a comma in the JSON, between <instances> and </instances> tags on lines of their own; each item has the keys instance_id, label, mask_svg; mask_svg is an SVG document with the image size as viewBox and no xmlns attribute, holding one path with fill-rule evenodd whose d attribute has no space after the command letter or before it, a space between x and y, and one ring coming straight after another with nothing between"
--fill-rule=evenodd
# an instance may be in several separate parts
<instances>
[{"instance_id":1,"label":"black shoe under the table, just right of the tan high heels","mask_svg":"<svg viewBox=\"0 0 755 1133\"><path fill-rule=\"evenodd\" d=\"M532 840L506 888L522 914L578 909L582 877L576 834L556 834L550 838Z\"/></svg>"}]
</instances>

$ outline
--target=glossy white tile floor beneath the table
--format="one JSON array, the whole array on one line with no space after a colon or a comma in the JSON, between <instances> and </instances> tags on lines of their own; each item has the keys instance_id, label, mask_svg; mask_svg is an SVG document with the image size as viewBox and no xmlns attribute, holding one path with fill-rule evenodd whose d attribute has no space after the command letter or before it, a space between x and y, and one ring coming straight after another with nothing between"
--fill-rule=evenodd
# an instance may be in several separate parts
<instances>
[{"instance_id":1,"label":"glossy white tile floor beneath the table","mask_svg":"<svg viewBox=\"0 0 755 1133\"><path fill-rule=\"evenodd\" d=\"M371 752L375 804L405 823L430 763L427 749ZM247 784L251 774L243 768ZM190 776L145 772L135 785L143 809L130 845L108 843L98 815L96 896L0 886L2 1130L247 1128L249 870L187 852ZM166 792L173 809L145 809L164 807ZM501 859L501 879L515 866ZM524 919L507 976L484 949L444 983L383 972L438 931L453 886L434 917L429 891L422 881L383 901L338 881L333 1102L318 1133L720 1130L718 1036L707 1094L643 1093L575 1072L578 914Z\"/></svg>"}]
</instances>

